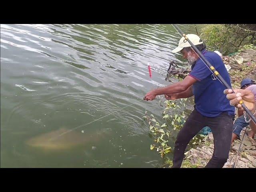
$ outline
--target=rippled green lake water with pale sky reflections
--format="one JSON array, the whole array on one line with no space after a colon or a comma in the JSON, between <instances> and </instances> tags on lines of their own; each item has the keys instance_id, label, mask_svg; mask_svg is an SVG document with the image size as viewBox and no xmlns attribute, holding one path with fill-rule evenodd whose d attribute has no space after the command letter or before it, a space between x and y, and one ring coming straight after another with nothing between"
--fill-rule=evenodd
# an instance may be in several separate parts
<instances>
[{"instance_id":1,"label":"rippled green lake water with pale sky reflections","mask_svg":"<svg viewBox=\"0 0 256 192\"><path fill-rule=\"evenodd\" d=\"M1 167L161 165L141 118L147 110L161 120L162 107L138 101L170 83L169 60L184 65L170 52L179 39L160 24L1 24ZM34 147L78 126L55 145L64 150Z\"/></svg>"}]
</instances>

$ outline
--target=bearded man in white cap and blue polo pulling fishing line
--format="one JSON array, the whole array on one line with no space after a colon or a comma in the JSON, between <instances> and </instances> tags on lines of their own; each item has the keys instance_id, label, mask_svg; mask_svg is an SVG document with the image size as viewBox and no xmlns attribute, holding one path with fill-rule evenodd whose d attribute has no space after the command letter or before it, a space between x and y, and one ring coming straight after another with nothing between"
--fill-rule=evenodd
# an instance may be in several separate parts
<instances>
[{"instance_id":1,"label":"bearded man in white cap and blue polo pulling fishing line","mask_svg":"<svg viewBox=\"0 0 256 192\"><path fill-rule=\"evenodd\" d=\"M231 86L230 77L220 56L215 52L207 51L203 41L197 35L186 36ZM172 52L181 52L183 58L191 64L192 71L181 82L151 90L144 96L144 100L147 101L154 100L157 95L162 94L165 94L168 100L189 98L193 95L195 97L194 110L179 131L175 142L172 168L180 168L186 146L205 126L211 128L214 137L214 153L205 168L222 168L230 150L234 106L230 105L223 94L225 86L217 80L184 37Z\"/></svg>"}]
</instances>

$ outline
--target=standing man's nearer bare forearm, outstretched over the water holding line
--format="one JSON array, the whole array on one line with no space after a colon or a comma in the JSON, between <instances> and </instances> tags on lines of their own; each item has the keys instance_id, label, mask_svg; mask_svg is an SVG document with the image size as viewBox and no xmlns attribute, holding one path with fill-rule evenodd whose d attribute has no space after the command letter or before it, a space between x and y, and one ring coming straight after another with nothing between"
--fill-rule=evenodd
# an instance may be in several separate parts
<instances>
[{"instance_id":1,"label":"standing man's nearer bare forearm, outstretched over the water holding line","mask_svg":"<svg viewBox=\"0 0 256 192\"><path fill-rule=\"evenodd\" d=\"M163 88L151 90L145 95L143 99L148 101L154 100L157 95L185 92L196 81L197 80L195 78L186 76L186 78L184 78L184 80L181 82L173 83Z\"/></svg>"}]
</instances>

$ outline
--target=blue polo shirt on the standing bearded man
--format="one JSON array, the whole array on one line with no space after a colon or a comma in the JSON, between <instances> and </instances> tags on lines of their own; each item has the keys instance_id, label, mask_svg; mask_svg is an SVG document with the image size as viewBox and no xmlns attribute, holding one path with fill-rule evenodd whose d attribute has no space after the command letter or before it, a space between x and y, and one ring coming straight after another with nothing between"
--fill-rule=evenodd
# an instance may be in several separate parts
<instances>
[{"instance_id":1,"label":"blue polo shirt on the standing bearded man","mask_svg":"<svg viewBox=\"0 0 256 192\"><path fill-rule=\"evenodd\" d=\"M224 80L230 85L231 81L222 59L212 51L202 50L204 57L214 66ZM193 84L196 110L203 116L216 117L222 112L234 115L235 108L231 106L223 93L226 87L212 74L211 70L199 58L192 66L188 74L197 81Z\"/></svg>"}]
</instances>

